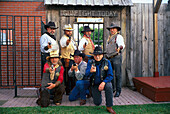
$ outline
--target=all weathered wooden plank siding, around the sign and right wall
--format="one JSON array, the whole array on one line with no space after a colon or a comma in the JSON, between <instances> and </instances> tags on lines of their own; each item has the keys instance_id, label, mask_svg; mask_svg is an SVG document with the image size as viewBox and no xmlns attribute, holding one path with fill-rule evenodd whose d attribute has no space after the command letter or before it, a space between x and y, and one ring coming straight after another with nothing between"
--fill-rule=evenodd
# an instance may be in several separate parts
<instances>
[{"instance_id":1,"label":"all weathered wooden plank siding, around the sign and right wall","mask_svg":"<svg viewBox=\"0 0 170 114\"><path fill-rule=\"evenodd\" d=\"M130 71L132 77L153 77L154 72L154 43L153 43L153 8L152 4L134 4L133 7L90 7L90 6L46 6L47 22L55 21L59 27L56 37L59 41L64 34L64 24L73 26L77 16L61 16L61 10L95 10L116 11L116 17L103 16L104 18L104 44L108 38L109 31L106 29L111 22L121 26L121 34L124 37L126 48L122 58L122 85L126 85L127 73ZM159 73L160 76L170 75L170 11L167 4L162 4L158 13L159 30ZM105 47L105 46L104 46ZM104 48L105 49L105 48ZM132 79L132 78L131 78Z\"/></svg>"}]
</instances>

